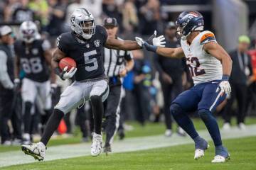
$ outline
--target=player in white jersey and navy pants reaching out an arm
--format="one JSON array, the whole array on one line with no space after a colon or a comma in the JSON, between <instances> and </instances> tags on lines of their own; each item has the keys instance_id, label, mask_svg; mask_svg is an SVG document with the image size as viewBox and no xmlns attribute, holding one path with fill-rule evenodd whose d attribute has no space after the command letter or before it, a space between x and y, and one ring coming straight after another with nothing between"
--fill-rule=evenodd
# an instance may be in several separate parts
<instances>
[{"instance_id":1,"label":"player in white jersey and navy pants reaching out an arm","mask_svg":"<svg viewBox=\"0 0 256 170\"><path fill-rule=\"evenodd\" d=\"M228 82L232 69L232 60L227 52L215 40L210 31L203 31L203 16L197 11L184 11L176 21L177 34L181 37L181 47L166 48L149 45L142 38L137 42L146 50L165 57L186 57L186 64L191 71L195 86L184 91L171 103L171 114L178 125L195 142L195 159L203 157L208 142L198 135L188 111L198 111L215 145L213 163L229 159L228 150L223 147L218 123L213 117L215 108L231 88ZM156 39L154 39L156 40ZM153 41L154 41L153 40Z\"/></svg>"}]
</instances>

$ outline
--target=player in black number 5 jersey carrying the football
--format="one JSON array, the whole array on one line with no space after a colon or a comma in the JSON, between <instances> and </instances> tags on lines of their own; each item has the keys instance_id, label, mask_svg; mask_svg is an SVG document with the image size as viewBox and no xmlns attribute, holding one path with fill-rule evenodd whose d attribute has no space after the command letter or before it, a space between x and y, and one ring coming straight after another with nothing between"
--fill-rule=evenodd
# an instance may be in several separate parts
<instances>
[{"instance_id":1,"label":"player in black number 5 jersey carrying the football","mask_svg":"<svg viewBox=\"0 0 256 170\"><path fill-rule=\"evenodd\" d=\"M73 12L70 16L70 26L72 31L63 33L57 38L58 48L53 53L52 67L61 79L70 79L75 76L75 82L61 94L41 141L33 145L22 145L23 152L38 160L43 160L45 157L46 145L65 113L87 100L92 103L95 125L91 155L97 156L102 152L103 101L107 98L109 91L102 58L103 47L116 50L141 49L136 41L107 38L105 28L97 26L92 13L85 8L78 8ZM163 43L159 38L153 38L152 42L157 46ZM65 67L60 70L58 63L64 57L73 58L77 68L73 67L67 71Z\"/></svg>"}]
</instances>

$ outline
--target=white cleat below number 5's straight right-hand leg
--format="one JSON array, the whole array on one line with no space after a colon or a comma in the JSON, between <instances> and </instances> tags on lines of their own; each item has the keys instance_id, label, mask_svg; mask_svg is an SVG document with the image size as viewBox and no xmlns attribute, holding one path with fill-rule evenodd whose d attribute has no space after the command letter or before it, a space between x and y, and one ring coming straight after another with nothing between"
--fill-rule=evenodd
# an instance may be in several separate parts
<instances>
[{"instance_id":1,"label":"white cleat below number 5's straight right-hand leg","mask_svg":"<svg viewBox=\"0 0 256 170\"><path fill-rule=\"evenodd\" d=\"M97 157L102 152L102 135L93 133L91 155Z\"/></svg>"}]
</instances>

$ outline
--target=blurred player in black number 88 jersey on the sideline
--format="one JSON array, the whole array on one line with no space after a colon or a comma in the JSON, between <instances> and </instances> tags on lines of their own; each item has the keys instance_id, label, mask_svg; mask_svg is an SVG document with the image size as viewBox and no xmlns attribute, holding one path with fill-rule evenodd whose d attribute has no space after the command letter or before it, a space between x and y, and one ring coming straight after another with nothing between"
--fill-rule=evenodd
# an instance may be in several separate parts
<instances>
[{"instance_id":1,"label":"blurred player in black number 88 jersey on the sideline","mask_svg":"<svg viewBox=\"0 0 256 170\"><path fill-rule=\"evenodd\" d=\"M14 82L19 84L18 74L21 69L25 72L22 79L21 97L25 103L24 113L24 133L23 143L31 143L31 108L36 101L36 96L40 96L43 102L45 115L42 119L47 119L51 109L50 95L50 42L42 40L38 33L36 23L25 21L20 26L21 39L14 43L16 53ZM54 72L53 72L54 73ZM55 77L55 74L52 74ZM54 81L54 79L52 80ZM45 120L46 122L46 120Z\"/></svg>"}]
</instances>

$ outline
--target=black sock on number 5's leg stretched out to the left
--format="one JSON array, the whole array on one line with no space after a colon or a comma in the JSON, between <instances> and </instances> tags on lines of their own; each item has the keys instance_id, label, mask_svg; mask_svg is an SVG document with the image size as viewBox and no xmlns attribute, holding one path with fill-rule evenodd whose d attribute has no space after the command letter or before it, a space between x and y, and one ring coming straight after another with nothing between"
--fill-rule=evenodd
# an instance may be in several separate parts
<instances>
[{"instance_id":1,"label":"black sock on number 5's leg stretched out to the left","mask_svg":"<svg viewBox=\"0 0 256 170\"><path fill-rule=\"evenodd\" d=\"M60 120L63 118L64 113L58 109L53 110L53 114L50 115L48 122L46 123L46 129L43 132L43 136L41 138L41 142L44 145L47 145L50 137L53 135L53 132L58 128L60 124Z\"/></svg>"}]
</instances>

